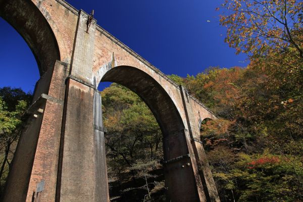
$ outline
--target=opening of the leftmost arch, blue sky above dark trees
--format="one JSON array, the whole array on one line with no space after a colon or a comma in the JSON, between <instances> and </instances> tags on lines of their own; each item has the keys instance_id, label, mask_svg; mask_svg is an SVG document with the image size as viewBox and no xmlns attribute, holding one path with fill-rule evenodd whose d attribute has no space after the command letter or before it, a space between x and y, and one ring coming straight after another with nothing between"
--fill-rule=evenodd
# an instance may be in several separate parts
<instances>
[{"instance_id":1,"label":"opening of the leftmost arch, blue sky above dark trees","mask_svg":"<svg viewBox=\"0 0 303 202\"><path fill-rule=\"evenodd\" d=\"M18 120L11 123L9 130L0 130L0 198L5 193L5 186L9 172L12 169L12 160L20 137L20 130L23 129L25 119L28 117L23 114L32 100L32 90L39 78L37 63L24 39L9 25L4 19L0 18L0 110L4 119L2 123L10 123L12 114ZM28 67L28 68L24 68ZM23 100L20 105L19 101ZM3 113L4 112L4 113ZM7 113L9 112L9 113ZM13 112L13 113L12 113ZM12 114L11 114L12 113ZM22 123L22 124L20 124Z\"/></svg>"}]
</instances>

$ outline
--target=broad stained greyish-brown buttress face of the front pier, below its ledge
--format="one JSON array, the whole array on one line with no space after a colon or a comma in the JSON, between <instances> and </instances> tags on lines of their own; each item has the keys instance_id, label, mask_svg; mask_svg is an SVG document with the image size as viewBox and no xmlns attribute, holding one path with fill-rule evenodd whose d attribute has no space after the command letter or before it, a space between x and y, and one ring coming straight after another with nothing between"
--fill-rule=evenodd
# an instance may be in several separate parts
<instances>
[{"instance_id":1,"label":"broad stained greyish-brown buttress face of the front pier, below its ledge","mask_svg":"<svg viewBox=\"0 0 303 202\"><path fill-rule=\"evenodd\" d=\"M69 80L60 201L94 200L93 89Z\"/></svg>"}]
</instances>

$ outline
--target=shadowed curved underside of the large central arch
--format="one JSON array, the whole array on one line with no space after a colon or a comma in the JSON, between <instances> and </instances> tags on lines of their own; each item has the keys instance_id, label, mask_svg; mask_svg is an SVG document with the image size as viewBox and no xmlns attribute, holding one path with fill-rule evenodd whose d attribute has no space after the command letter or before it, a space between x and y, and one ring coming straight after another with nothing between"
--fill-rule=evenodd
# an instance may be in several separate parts
<instances>
[{"instance_id":1,"label":"shadowed curved underside of the large central arch","mask_svg":"<svg viewBox=\"0 0 303 202\"><path fill-rule=\"evenodd\" d=\"M101 81L119 83L139 95L155 115L164 137L184 129L171 97L145 72L134 67L118 66L109 70Z\"/></svg>"}]
</instances>

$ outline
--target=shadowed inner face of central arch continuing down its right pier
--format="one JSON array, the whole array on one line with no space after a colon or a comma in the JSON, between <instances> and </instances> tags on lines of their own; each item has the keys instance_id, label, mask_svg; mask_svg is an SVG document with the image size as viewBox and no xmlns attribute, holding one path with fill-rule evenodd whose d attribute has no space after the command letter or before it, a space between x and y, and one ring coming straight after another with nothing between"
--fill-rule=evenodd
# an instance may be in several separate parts
<instances>
[{"instance_id":1,"label":"shadowed inner face of central arch continuing down its right pier","mask_svg":"<svg viewBox=\"0 0 303 202\"><path fill-rule=\"evenodd\" d=\"M184 154L190 153L186 142L187 129L172 98L156 79L138 68L117 66L108 70L100 81L119 83L143 99L153 112L162 130L164 162L175 161L175 158L180 157L184 158L180 165L182 163L185 165L188 162L187 156L184 156ZM196 183L193 170L185 167L184 176L180 176L179 173L175 173L180 165L171 166L170 163L168 164L168 166L164 164L165 183L166 187L169 187L168 194L172 197L176 192L179 192L179 201L197 200L196 191L187 189L191 184Z\"/></svg>"}]
</instances>

